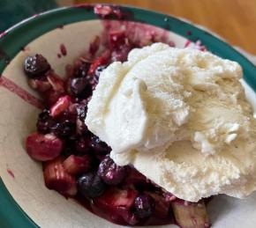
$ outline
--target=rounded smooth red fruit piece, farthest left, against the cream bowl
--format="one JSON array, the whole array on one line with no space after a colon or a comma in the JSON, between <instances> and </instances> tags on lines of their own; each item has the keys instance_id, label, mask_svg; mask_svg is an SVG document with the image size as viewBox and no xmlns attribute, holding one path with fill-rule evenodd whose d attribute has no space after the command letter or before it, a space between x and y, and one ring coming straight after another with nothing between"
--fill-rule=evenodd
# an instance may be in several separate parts
<instances>
[{"instance_id":1,"label":"rounded smooth red fruit piece, farthest left, against the cream bowl","mask_svg":"<svg viewBox=\"0 0 256 228\"><path fill-rule=\"evenodd\" d=\"M52 160L60 155L63 148L64 142L52 134L35 132L26 138L26 152L35 160Z\"/></svg>"}]
</instances>

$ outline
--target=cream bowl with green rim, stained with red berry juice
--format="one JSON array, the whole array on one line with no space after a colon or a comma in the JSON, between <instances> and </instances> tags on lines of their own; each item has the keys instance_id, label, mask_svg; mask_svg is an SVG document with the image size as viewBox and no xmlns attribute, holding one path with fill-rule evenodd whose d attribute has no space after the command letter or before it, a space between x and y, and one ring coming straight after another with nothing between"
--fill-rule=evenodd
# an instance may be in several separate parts
<instances>
[{"instance_id":1,"label":"cream bowl with green rim, stained with red berry juice","mask_svg":"<svg viewBox=\"0 0 256 228\"><path fill-rule=\"evenodd\" d=\"M39 112L33 106L31 97L27 97L28 93L34 99L39 99L26 85L22 70L22 61L26 55L40 52L47 57L57 74L64 75L65 65L72 63L88 47L95 35L104 32L106 23L114 27L126 26L134 34L153 31L162 37L166 36L166 39L179 48L205 46L215 55L240 63L245 74L246 94L255 105L256 68L224 40L180 18L128 6L119 8L127 17L119 21L114 18L111 22L102 22L94 14L92 5L47 11L20 22L1 35L1 227L119 227L95 217L83 210L78 203L67 201L45 188L41 165L26 155L24 139L34 129ZM68 53L61 58L57 55L60 44L65 45ZM209 205L213 227L240 227L241 224L255 227L255 205L256 195L246 200L217 196Z\"/></svg>"}]
</instances>

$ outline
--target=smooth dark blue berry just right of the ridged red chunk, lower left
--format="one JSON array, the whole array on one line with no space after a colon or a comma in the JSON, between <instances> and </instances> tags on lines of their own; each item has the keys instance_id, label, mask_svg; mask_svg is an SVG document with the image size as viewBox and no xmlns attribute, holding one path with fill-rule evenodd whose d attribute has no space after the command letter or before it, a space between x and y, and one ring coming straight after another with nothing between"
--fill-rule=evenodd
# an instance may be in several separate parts
<instances>
[{"instance_id":1,"label":"smooth dark blue berry just right of the ridged red chunk, lower left","mask_svg":"<svg viewBox=\"0 0 256 228\"><path fill-rule=\"evenodd\" d=\"M106 185L96 173L86 173L79 177L79 193L87 198L95 198L102 195L105 188Z\"/></svg>"}]
</instances>

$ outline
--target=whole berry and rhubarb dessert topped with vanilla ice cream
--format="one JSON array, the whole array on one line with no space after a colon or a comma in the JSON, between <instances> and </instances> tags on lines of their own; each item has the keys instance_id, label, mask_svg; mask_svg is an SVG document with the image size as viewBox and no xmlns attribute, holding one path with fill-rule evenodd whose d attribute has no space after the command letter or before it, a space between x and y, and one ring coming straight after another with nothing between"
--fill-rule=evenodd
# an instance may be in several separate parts
<instances>
[{"instance_id":1,"label":"whole berry and rhubarb dessert topped with vanilla ice cream","mask_svg":"<svg viewBox=\"0 0 256 228\"><path fill-rule=\"evenodd\" d=\"M106 34L63 79L44 56L26 57L28 85L45 104L27 154L47 188L110 222L209 227L206 197L255 188L241 68L154 33L143 42Z\"/></svg>"}]
</instances>

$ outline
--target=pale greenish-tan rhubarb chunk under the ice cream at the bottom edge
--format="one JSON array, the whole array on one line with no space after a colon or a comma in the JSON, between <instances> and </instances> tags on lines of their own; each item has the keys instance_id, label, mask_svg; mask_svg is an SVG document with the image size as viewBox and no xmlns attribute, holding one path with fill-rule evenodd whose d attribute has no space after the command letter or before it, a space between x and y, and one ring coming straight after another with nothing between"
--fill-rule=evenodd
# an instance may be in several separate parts
<instances>
[{"instance_id":1,"label":"pale greenish-tan rhubarb chunk under the ice cream at the bottom edge","mask_svg":"<svg viewBox=\"0 0 256 228\"><path fill-rule=\"evenodd\" d=\"M177 224L183 228L210 227L207 209L204 202L171 202Z\"/></svg>"}]
</instances>

